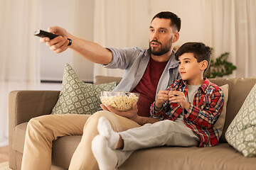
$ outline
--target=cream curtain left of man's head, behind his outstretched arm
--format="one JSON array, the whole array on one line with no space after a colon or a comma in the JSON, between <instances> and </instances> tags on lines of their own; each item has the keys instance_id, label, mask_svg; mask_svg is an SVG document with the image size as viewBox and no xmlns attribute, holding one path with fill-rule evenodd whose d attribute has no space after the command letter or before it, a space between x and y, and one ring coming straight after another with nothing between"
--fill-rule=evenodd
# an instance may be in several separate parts
<instances>
[{"instance_id":1,"label":"cream curtain left of man's head, behind his outstretched arm","mask_svg":"<svg viewBox=\"0 0 256 170\"><path fill-rule=\"evenodd\" d=\"M95 0L94 42L103 47L132 47L134 45L135 0ZM122 77L123 70L105 69L94 65L97 75Z\"/></svg>"}]
</instances>

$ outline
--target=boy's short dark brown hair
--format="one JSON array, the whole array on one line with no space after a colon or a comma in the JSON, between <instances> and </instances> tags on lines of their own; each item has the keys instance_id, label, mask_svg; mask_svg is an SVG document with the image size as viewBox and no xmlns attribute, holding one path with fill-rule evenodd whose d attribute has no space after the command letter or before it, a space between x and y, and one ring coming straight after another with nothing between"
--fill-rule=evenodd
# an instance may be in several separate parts
<instances>
[{"instance_id":1,"label":"boy's short dark brown hair","mask_svg":"<svg viewBox=\"0 0 256 170\"><path fill-rule=\"evenodd\" d=\"M196 58L198 62L202 62L203 60L206 60L208 62L208 65L205 69L208 69L210 65L210 55L211 50L210 47L206 46L202 42L186 42L185 44L181 45L181 47L178 48L175 59L178 61L178 57L185 53L193 53L193 56Z\"/></svg>"}]
</instances>

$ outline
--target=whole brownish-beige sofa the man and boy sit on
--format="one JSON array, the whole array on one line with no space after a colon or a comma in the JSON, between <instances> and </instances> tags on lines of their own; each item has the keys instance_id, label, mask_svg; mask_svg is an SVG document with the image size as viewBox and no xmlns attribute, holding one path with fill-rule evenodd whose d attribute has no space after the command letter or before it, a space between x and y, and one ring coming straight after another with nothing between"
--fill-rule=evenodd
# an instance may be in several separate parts
<instances>
[{"instance_id":1,"label":"whole brownish-beige sofa the man and boy sit on","mask_svg":"<svg viewBox=\"0 0 256 170\"><path fill-rule=\"evenodd\" d=\"M120 81L114 77L96 77L96 84ZM255 78L211 79L219 86L229 84L227 115L220 144L215 147L155 147L132 154L119 169L256 169L256 157L243 157L228 145L225 131L247 94L256 83ZM50 114L60 91L11 91L9 94L9 166L21 169L24 138L28 120ZM52 169L68 169L70 159L81 136L60 137L53 142Z\"/></svg>"}]
</instances>

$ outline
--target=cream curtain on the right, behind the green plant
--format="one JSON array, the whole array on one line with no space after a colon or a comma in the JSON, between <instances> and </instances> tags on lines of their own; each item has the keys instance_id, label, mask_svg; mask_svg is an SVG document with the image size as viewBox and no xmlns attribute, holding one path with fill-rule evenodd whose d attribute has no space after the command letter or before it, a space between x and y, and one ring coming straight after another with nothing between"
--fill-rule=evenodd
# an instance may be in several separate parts
<instances>
[{"instance_id":1,"label":"cream curtain on the right, behind the green plant","mask_svg":"<svg viewBox=\"0 0 256 170\"><path fill-rule=\"evenodd\" d=\"M230 52L237 67L231 77L256 76L256 1L211 0L205 3L206 36L214 56Z\"/></svg>"}]
</instances>

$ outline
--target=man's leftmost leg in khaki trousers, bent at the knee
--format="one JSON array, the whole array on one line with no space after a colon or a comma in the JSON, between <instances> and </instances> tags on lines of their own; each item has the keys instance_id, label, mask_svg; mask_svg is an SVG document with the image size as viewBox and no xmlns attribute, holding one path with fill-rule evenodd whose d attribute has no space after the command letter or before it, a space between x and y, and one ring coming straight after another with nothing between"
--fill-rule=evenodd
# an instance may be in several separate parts
<instances>
[{"instance_id":1,"label":"man's leftmost leg in khaki trousers, bent at the knee","mask_svg":"<svg viewBox=\"0 0 256 170\"><path fill-rule=\"evenodd\" d=\"M46 170L51 166L53 140L82 135L90 115L43 115L28 122L21 169Z\"/></svg>"}]
</instances>

